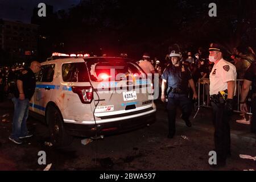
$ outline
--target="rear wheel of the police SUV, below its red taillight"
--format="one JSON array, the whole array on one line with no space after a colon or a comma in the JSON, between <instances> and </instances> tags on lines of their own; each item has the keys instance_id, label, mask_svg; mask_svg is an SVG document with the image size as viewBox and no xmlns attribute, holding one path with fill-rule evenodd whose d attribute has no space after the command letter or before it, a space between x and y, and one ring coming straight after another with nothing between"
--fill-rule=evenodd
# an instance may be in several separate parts
<instances>
[{"instance_id":1,"label":"rear wheel of the police SUV, below its red taillight","mask_svg":"<svg viewBox=\"0 0 256 182\"><path fill-rule=\"evenodd\" d=\"M63 126L63 117L59 109L50 105L47 109L46 119L49 124L49 134L53 146L59 148L71 144L73 137L66 133Z\"/></svg>"}]
</instances>

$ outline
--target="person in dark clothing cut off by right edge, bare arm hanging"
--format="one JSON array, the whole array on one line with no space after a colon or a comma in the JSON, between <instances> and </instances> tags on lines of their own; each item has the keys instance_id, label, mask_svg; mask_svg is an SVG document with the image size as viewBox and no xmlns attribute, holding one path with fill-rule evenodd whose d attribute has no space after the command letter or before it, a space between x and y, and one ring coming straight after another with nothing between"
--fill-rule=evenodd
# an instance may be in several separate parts
<instances>
[{"instance_id":1,"label":"person in dark clothing cut off by right edge, bare arm hanging","mask_svg":"<svg viewBox=\"0 0 256 182\"><path fill-rule=\"evenodd\" d=\"M251 132L256 133L256 62L251 63L250 67L245 72L245 77L243 80L243 86L241 89L241 100L240 100L240 109L244 113L248 112L247 105L245 103L246 97L249 93L251 86L252 95L252 104L251 112L253 116L251 117Z\"/></svg>"}]
</instances>

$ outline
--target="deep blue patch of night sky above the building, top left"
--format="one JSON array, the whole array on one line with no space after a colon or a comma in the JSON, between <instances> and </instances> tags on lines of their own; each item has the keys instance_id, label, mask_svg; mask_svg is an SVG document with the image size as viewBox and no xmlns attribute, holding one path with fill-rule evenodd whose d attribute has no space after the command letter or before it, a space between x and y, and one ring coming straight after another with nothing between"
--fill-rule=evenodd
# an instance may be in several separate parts
<instances>
[{"instance_id":1,"label":"deep blue patch of night sky above the building, top left","mask_svg":"<svg viewBox=\"0 0 256 182\"><path fill-rule=\"evenodd\" d=\"M53 6L53 10L67 10L80 0L0 0L0 18L30 23L32 11L39 3Z\"/></svg>"}]
</instances>

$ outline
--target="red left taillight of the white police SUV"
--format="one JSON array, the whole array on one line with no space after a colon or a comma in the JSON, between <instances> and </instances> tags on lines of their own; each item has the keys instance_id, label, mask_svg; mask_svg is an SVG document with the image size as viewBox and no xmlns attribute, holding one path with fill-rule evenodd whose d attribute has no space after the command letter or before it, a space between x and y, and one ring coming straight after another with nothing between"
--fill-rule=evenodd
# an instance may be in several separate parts
<instances>
[{"instance_id":1,"label":"red left taillight of the white police SUV","mask_svg":"<svg viewBox=\"0 0 256 182\"><path fill-rule=\"evenodd\" d=\"M79 95L83 104L90 104L93 100L92 86L72 86L72 91Z\"/></svg>"}]
</instances>

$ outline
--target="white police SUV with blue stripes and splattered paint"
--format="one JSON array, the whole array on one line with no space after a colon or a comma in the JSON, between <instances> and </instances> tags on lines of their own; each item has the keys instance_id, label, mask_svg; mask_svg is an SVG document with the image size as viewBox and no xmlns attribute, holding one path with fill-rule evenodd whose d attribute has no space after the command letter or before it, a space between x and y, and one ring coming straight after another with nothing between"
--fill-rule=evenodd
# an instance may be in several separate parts
<instances>
[{"instance_id":1,"label":"white police SUV with blue stripes and splattered paint","mask_svg":"<svg viewBox=\"0 0 256 182\"><path fill-rule=\"evenodd\" d=\"M152 84L141 77L144 72L135 61L71 56L53 53L53 60L41 63L30 101L30 114L44 118L53 145L68 145L72 136L102 137L155 121Z\"/></svg>"}]
</instances>

